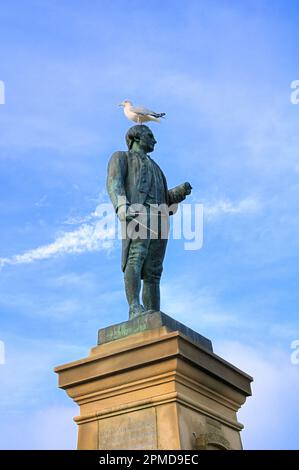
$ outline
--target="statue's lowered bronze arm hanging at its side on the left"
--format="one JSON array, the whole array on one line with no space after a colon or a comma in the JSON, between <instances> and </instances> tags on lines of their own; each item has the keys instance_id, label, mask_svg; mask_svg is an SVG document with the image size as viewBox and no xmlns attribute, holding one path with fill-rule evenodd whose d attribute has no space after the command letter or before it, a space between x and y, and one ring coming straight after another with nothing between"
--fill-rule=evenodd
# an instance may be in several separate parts
<instances>
[{"instance_id":1,"label":"statue's lowered bronze arm hanging at its side on the left","mask_svg":"<svg viewBox=\"0 0 299 470\"><path fill-rule=\"evenodd\" d=\"M126 152L115 152L108 164L107 191L116 213L120 207L126 204L125 179L127 170Z\"/></svg>"}]
</instances>

